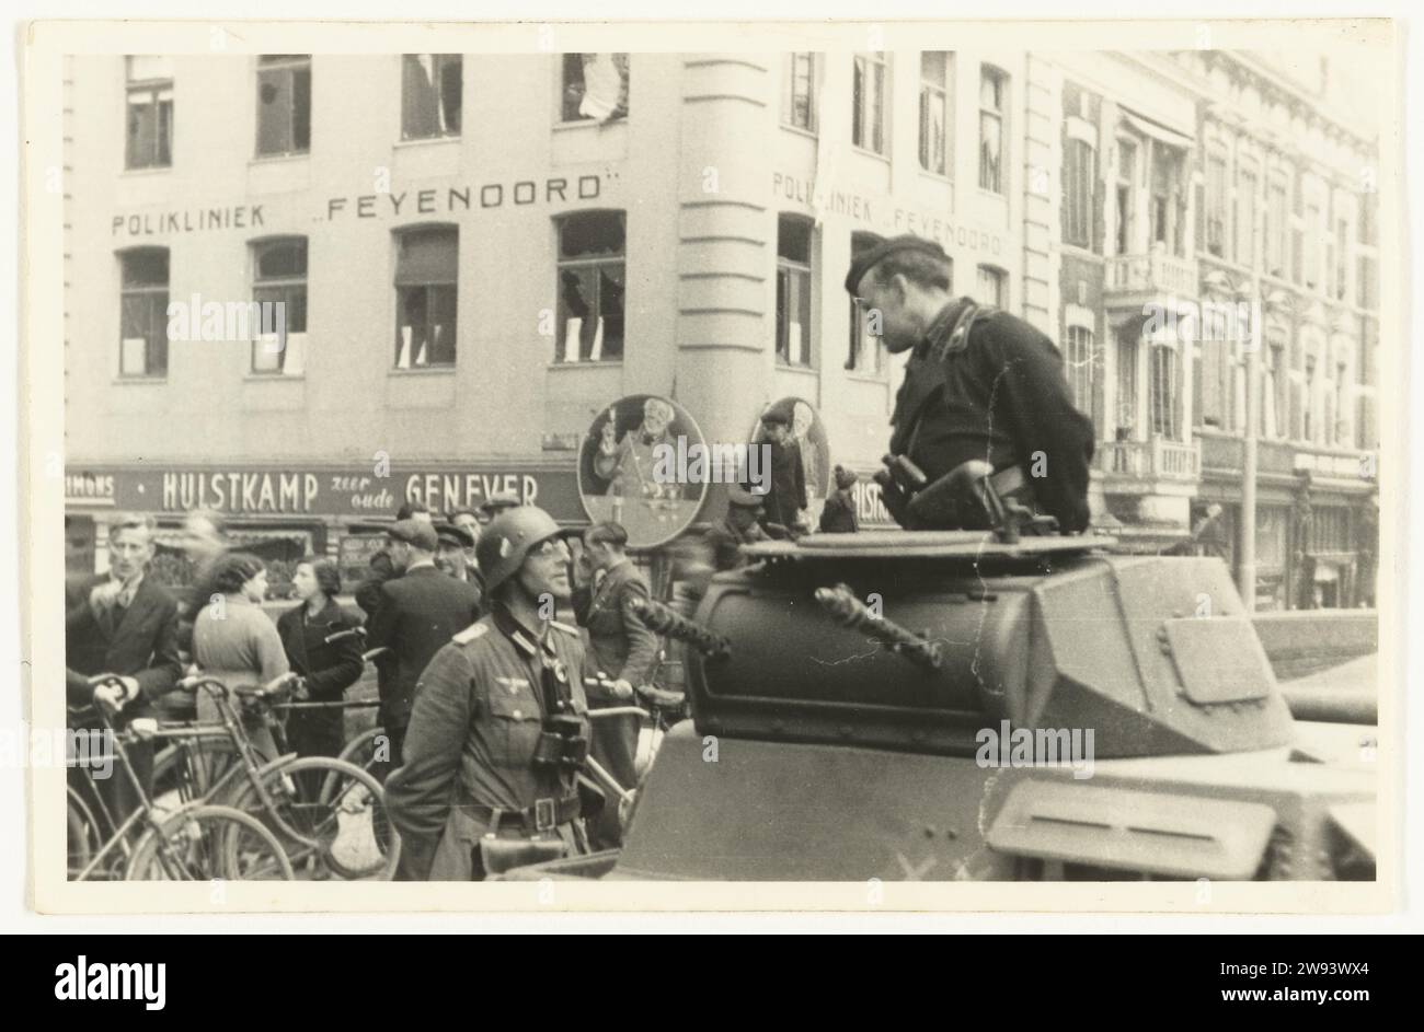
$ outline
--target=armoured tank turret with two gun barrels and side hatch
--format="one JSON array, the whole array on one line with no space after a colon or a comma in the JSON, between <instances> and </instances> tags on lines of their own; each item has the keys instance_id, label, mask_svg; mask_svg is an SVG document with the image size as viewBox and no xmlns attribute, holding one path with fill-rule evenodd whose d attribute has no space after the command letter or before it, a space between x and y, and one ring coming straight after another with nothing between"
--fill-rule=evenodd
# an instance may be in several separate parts
<instances>
[{"instance_id":1,"label":"armoured tank turret with two gun barrels and side hatch","mask_svg":"<svg viewBox=\"0 0 1424 1032\"><path fill-rule=\"evenodd\" d=\"M758 565L713 578L696 614L733 643L692 658L698 729L968 756L1004 720L1091 729L1099 757L1287 743L1226 568L1105 545L901 532L748 547Z\"/></svg>"}]
</instances>

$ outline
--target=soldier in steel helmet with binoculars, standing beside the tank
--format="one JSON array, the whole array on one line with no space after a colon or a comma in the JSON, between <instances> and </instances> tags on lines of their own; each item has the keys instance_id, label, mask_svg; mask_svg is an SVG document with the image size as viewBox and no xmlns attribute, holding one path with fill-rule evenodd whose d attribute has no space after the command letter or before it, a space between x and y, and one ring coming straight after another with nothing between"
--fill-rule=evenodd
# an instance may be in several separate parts
<instances>
[{"instance_id":1,"label":"soldier in steel helmet with binoculars, standing beside the tank","mask_svg":"<svg viewBox=\"0 0 1424 1032\"><path fill-rule=\"evenodd\" d=\"M404 766L386 783L409 868L431 881L588 851L584 645L548 618L571 595L568 548L544 510L523 505L484 528L477 554L490 614L426 668Z\"/></svg>"}]
</instances>

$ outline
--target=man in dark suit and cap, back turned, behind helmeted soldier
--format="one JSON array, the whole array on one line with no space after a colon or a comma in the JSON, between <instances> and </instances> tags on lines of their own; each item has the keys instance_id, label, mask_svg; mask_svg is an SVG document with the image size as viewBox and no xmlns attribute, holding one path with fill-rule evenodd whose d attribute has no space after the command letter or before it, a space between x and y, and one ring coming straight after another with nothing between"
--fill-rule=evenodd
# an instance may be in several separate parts
<instances>
[{"instance_id":1,"label":"man in dark suit and cap, back turned, behind helmeted soldier","mask_svg":"<svg viewBox=\"0 0 1424 1032\"><path fill-rule=\"evenodd\" d=\"M380 585L366 645L389 649L386 676L380 682L380 722L390 746L389 769L402 763L420 673L457 631L480 619L478 591L473 584L440 572L434 562L437 547L436 528L424 521L400 520L386 531L386 555L396 575Z\"/></svg>"}]
</instances>

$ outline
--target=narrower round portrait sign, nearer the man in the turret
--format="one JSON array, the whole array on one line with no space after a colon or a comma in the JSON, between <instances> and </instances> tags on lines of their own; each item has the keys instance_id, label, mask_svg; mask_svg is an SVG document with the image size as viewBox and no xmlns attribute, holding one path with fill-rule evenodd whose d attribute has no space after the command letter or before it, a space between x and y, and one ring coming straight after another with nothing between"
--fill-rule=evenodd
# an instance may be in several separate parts
<instances>
[{"instance_id":1,"label":"narrower round portrait sign, nearer the man in the turret","mask_svg":"<svg viewBox=\"0 0 1424 1032\"><path fill-rule=\"evenodd\" d=\"M820 413L805 399L783 397L762 410L750 441L775 446L762 520L787 530L815 528L827 493L836 487L830 483L830 440Z\"/></svg>"}]
</instances>

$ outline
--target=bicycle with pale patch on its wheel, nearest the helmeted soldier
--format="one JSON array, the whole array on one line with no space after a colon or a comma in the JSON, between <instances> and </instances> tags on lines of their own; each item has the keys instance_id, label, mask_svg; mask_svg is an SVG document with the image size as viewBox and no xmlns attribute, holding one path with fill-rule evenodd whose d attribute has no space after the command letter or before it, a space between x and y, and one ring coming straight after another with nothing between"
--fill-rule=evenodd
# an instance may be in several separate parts
<instances>
[{"instance_id":1,"label":"bicycle with pale patch on its wheel, nearest the helmeted soldier","mask_svg":"<svg viewBox=\"0 0 1424 1032\"><path fill-rule=\"evenodd\" d=\"M400 840L390 833L384 793L359 767L326 756L296 757L275 712L299 679L283 675L268 685L228 689L202 675L178 682L188 692L205 690L219 715L218 725L169 725L159 729L189 754L204 752L208 739L225 736L234 763L208 783L194 781L198 799L231 806L273 830L288 854L315 877L343 880L393 877ZM236 696L272 732L281 756L266 760L252 744L231 696ZM188 769L204 764L189 762Z\"/></svg>"}]
</instances>

